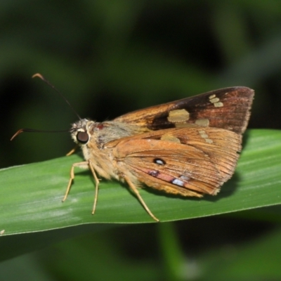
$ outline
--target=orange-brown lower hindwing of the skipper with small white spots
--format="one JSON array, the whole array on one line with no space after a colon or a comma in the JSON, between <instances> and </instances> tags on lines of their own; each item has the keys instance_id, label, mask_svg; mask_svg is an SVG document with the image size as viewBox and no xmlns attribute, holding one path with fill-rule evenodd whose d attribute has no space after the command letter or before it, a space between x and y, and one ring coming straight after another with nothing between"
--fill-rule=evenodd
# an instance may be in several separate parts
<instances>
[{"instance_id":1,"label":"orange-brown lower hindwing of the skipper with small white spots","mask_svg":"<svg viewBox=\"0 0 281 281\"><path fill-rule=\"evenodd\" d=\"M108 143L119 174L183 196L216 195L232 175L241 136L216 128L166 129Z\"/></svg>"}]
</instances>

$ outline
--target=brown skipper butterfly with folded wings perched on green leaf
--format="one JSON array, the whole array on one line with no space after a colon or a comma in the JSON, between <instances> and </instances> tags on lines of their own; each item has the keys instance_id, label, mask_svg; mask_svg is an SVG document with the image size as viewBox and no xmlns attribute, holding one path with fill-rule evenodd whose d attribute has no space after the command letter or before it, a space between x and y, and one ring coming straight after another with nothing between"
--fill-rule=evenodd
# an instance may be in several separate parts
<instances>
[{"instance_id":1,"label":"brown skipper butterfly with folded wings perched on green leaf","mask_svg":"<svg viewBox=\"0 0 281 281\"><path fill-rule=\"evenodd\" d=\"M92 213L98 198L97 174L127 183L155 221L159 220L138 188L147 185L182 196L216 195L235 171L253 97L249 88L232 87L136 110L108 122L80 119L70 132L85 161L72 165L63 201L76 166L91 169L95 178Z\"/></svg>"}]
</instances>

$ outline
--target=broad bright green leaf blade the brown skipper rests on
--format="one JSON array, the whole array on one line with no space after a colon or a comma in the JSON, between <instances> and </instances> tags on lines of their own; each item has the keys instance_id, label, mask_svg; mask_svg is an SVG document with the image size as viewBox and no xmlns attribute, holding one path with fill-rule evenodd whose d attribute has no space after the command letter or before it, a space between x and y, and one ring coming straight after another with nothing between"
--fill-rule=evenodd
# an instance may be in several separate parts
<instances>
[{"instance_id":1,"label":"broad bright green leaf blade the brown skipper rests on","mask_svg":"<svg viewBox=\"0 0 281 281\"><path fill-rule=\"evenodd\" d=\"M174 221L280 204L281 131L251 130L244 139L235 175L217 196L183 198L142 189L152 213L160 221ZM2 169L0 231L11 235L84 223L152 222L126 186L105 180L100 182L96 214L91 215L94 183L89 171L76 170L70 195L62 203L70 167L80 161L72 155Z\"/></svg>"}]
</instances>

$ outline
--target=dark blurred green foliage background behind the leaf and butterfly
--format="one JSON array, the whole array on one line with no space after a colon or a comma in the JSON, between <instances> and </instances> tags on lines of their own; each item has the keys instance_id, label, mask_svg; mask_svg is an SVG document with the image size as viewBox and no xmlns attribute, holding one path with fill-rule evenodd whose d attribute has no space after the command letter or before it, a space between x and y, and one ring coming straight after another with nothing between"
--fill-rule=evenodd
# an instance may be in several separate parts
<instances>
[{"instance_id":1,"label":"dark blurred green foliage background behind the leaf and butterfly","mask_svg":"<svg viewBox=\"0 0 281 281\"><path fill-rule=\"evenodd\" d=\"M30 78L36 72L81 117L100 121L204 91L249 86L256 91L249 127L280 129L280 21L276 0L1 1L0 166L52 159L72 148L67 133L25 133L9 141L22 127L68 129L77 119L55 91ZM216 280L280 280L275 216L263 209L236 218L116 228L6 261L0 277L210 280L217 268ZM174 242L172 249L164 237Z\"/></svg>"}]
</instances>

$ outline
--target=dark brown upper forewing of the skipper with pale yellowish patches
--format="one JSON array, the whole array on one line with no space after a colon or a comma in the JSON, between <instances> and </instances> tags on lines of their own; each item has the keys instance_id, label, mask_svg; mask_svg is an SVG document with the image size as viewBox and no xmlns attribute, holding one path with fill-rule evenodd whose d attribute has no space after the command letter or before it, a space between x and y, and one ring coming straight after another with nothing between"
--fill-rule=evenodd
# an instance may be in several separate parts
<instances>
[{"instance_id":1,"label":"dark brown upper forewing of the skipper with pale yellowish patches","mask_svg":"<svg viewBox=\"0 0 281 281\"><path fill-rule=\"evenodd\" d=\"M253 97L254 91L247 87L225 88L130 112L114 121L152 131L195 125L243 133Z\"/></svg>"}]
</instances>

